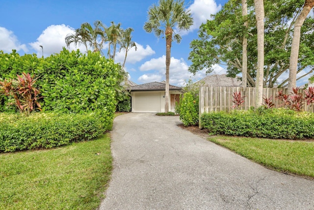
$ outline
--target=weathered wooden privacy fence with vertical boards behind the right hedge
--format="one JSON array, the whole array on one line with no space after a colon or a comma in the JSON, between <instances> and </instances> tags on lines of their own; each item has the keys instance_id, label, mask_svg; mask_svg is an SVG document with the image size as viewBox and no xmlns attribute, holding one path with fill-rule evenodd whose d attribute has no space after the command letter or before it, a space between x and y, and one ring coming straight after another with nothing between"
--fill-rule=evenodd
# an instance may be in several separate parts
<instances>
[{"instance_id":1,"label":"weathered wooden privacy fence with vertical boards behind the right hedge","mask_svg":"<svg viewBox=\"0 0 314 210\"><path fill-rule=\"evenodd\" d=\"M288 94L288 89L283 88L263 88L263 95L267 98L273 95L272 102L275 107L282 107L283 102L276 99L276 94L279 90L283 90L283 94ZM240 109L248 110L250 107L255 106L255 88L242 88L242 87L200 87L199 93L199 121L200 117L205 112L219 112L219 111L231 111L234 103L232 102L232 94L234 92L241 92L241 96L244 97L244 103L242 103ZM303 93L300 89L299 92ZM313 107L309 107L304 103L304 110L313 112ZM201 124L201 123L199 123Z\"/></svg>"}]
</instances>

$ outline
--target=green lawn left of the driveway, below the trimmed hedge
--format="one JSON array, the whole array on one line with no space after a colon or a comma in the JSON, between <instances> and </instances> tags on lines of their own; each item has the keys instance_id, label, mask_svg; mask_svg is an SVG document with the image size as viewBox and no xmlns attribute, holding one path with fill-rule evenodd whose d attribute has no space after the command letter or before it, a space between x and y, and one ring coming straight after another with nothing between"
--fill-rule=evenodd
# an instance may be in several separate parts
<instances>
[{"instance_id":1,"label":"green lawn left of the driveway, below the trimmed hedge","mask_svg":"<svg viewBox=\"0 0 314 210\"><path fill-rule=\"evenodd\" d=\"M96 209L111 169L108 133L52 150L2 153L0 209Z\"/></svg>"}]
</instances>

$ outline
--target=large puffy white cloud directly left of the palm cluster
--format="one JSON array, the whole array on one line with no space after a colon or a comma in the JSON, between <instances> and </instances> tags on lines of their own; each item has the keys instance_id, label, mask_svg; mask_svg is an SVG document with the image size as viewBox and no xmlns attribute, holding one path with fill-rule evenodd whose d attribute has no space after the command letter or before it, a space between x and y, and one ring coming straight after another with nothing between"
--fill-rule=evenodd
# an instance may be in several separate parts
<instances>
[{"instance_id":1,"label":"large puffy white cloud directly left of the palm cluster","mask_svg":"<svg viewBox=\"0 0 314 210\"><path fill-rule=\"evenodd\" d=\"M29 45L37 51L37 55L42 55L42 49L40 47L43 46L44 56L50 56L54 53L60 53L62 51L62 47L66 47L65 37L74 33L75 30L69 26L62 25L51 25L45 29L42 34L37 38L36 42L29 43ZM80 49L81 52L85 52L85 46L80 45L77 48L74 45L70 45L69 50Z\"/></svg>"}]
</instances>

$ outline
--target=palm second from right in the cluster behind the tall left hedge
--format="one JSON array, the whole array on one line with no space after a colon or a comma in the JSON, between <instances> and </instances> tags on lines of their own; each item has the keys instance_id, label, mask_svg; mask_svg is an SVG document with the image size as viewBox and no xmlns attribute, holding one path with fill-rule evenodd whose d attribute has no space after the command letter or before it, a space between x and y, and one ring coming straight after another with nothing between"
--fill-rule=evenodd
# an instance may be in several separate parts
<instances>
[{"instance_id":1,"label":"palm second from right in the cluster behind the tall left hedge","mask_svg":"<svg viewBox=\"0 0 314 210\"><path fill-rule=\"evenodd\" d=\"M115 25L114 22L111 22L111 26L108 28L105 28L105 34L106 34L106 39L104 41L108 41L108 58L114 60L115 54L116 54L116 48L117 48L117 43L120 42L121 39L121 29L120 29L121 24ZM110 46L112 45L113 47L113 54L111 55L111 48Z\"/></svg>"}]
</instances>

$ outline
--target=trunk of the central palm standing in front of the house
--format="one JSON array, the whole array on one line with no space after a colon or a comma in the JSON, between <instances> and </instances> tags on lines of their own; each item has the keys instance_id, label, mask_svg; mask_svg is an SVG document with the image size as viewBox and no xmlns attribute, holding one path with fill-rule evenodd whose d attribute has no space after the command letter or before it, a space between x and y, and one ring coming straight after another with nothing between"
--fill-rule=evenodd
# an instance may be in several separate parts
<instances>
[{"instance_id":1,"label":"trunk of the central palm standing in front of the house","mask_svg":"<svg viewBox=\"0 0 314 210\"><path fill-rule=\"evenodd\" d=\"M171 42L172 42L172 29L166 28L166 87L165 87L165 113L169 111L169 69L171 58Z\"/></svg>"}]
</instances>

